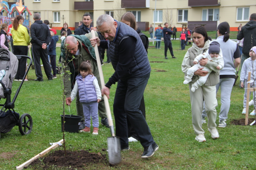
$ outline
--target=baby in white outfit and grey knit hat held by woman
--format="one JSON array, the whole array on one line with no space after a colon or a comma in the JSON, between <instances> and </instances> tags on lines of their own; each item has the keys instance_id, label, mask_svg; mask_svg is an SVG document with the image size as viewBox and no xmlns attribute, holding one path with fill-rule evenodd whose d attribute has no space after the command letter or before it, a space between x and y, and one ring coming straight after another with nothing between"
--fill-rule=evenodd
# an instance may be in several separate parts
<instances>
[{"instance_id":1,"label":"baby in white outfit and grey knit hat held by woman","mask_svg":"<svg viewBox=\"0 0 256 170\"><path fill-rule=\"evenodd\" d=\"M222 52L220 49L219 42L217 41L211 42L209 49L205 53L196 56L193 62L193 64L195 65L188 69L187 76L185 77L183 84L188 84L189 82L191 82L192 81L191 78L193 77L194 72L203 67L203 71L208 71L208 73L206 74L206 76L198 76L199 79L191 87L191 91L195 92L196 89L198 89L198 86L204 85L209 74L212 72L212 70L209 67L201 66L200 64L198 64L198 62L202 58L207 58L209 61L218 63L218 66L216 68L218 70L221 70L224 67L224 60L221 55L222 55Z\"/></svg>"}]
</instances>

